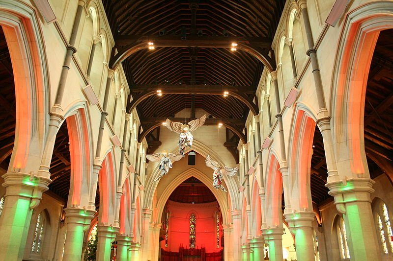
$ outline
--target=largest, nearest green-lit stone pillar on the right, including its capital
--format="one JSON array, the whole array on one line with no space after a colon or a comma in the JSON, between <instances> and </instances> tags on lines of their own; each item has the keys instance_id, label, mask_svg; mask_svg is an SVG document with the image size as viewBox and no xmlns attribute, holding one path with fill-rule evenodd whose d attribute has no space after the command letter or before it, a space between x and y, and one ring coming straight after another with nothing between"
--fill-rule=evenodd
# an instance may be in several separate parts
<instances>
[{"instance_id":1,"label":"largest, nearest green-lit stone pillar on the right, including its capital","mask_svg":"<svg viewBox=\"0 0 393 261\"><path fill-rule=\"evenodd\" d=\"M343 214L351 261L371 261L380 257L371 210L372 185L368 178L328 182L339 213Z\"/></svg>"}]
</instances>

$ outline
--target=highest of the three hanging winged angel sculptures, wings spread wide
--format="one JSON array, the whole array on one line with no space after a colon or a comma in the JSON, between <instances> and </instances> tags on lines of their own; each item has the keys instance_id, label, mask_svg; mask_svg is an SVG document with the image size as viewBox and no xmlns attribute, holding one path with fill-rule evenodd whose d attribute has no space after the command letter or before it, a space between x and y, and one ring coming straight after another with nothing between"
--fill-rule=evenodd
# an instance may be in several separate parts
<instances>
[{"instance_id":1,"label":"highest of the three hanging winged angel sculptures, wings spread wide","mask_svg":"<svg viewBox=\"0 0 393 261\"><path fill-rule=\"evenodd\" d=\"M187 124L183 124L181 122L173 122L170 119L167 119L165 126L169 130L180 134L178 145L179 153L181 155L184 156L184 150L186 149L186 147L189 147L191 149L194 140L194 136L191 134L191 132L202 126L205 123L205 120L206 115L203 115L199 119L191 120Z\"/></svg>"}]
</instances>

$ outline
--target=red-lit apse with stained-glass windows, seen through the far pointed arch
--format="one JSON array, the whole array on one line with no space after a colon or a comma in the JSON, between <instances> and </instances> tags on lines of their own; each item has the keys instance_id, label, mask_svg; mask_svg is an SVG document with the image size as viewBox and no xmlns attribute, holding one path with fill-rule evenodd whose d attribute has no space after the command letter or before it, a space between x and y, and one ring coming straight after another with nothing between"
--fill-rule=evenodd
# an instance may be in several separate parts
<instances>
[{"instance_id":1,"label":"red-lit apse with stained-glass windows, seen through the far pointed arch","mask_svg":"<svg viewBox=\"0 0 393 261\"><path fill-rule=\"evenodd\" d=\"M161 217L160 260L192 258L200 261L223 257L223 222L212 191L192 176L170 194Z\"/></svg>"}]
</instances>

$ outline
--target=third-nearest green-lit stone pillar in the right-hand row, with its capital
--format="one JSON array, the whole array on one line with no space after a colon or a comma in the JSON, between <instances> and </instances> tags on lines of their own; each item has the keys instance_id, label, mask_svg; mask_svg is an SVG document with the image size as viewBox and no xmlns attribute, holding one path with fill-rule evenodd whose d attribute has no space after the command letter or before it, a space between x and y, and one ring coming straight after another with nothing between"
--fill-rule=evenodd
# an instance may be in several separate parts
<instances>
[{"instance_id":1,"label":"third-nearest green-lit stone pillar in the right-hand row, with its capital","mask_svg":"<svg viewBox=\"0 0 393 261\"><path fill-rule=\"evenodd\" d=\"M265 237L265 242L269 244L269 260L282 261L282 234L284 234L284 229L282 227L269 228L263 230L262 234Z\"/></svg>"}]
</instances>

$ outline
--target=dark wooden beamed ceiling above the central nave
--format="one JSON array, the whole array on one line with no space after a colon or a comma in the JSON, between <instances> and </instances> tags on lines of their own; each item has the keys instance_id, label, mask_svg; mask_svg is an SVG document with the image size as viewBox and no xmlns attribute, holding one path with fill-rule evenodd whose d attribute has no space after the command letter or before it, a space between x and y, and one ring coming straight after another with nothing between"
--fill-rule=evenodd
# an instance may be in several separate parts
<instances>
[{"instance_id":1,"label":"dark wooden beamed ceiling above the central nave","mask_svg":"<svg viewBox=\"0 0 393 261\"><path fill-rule=\"evenodd\" d=\"M231 43L239 43L239 49L242 43L251 45L267 57L284 3L285 0L103 0L118 55L130 46L148 41L156 45L154 50L144 46L122 61L133 98L142 96L130 108L136 106L142 122L173 117L191 108L192 112L203 109L214 118L240 119L244 128L250 109L253 114L258 111L253 98L263 64L246 51L231 51ZM112 66L116 59L112 57ZM144 97L147 85L177 85L184 92ZM194 85L206 85L215 95L188 92ZM243 96L239 99L217 95L224 93L225 86L235 86ZM250 88L244 92L241 86ZM155 121L142 128L150 128ZM231 126L232 130L237 127ZM153 143L159 140L156 135L146 138ZM227 141L227 145L232 143ZM236 146L227 148L236 150Z\"/></svg>"}]
</instances>

